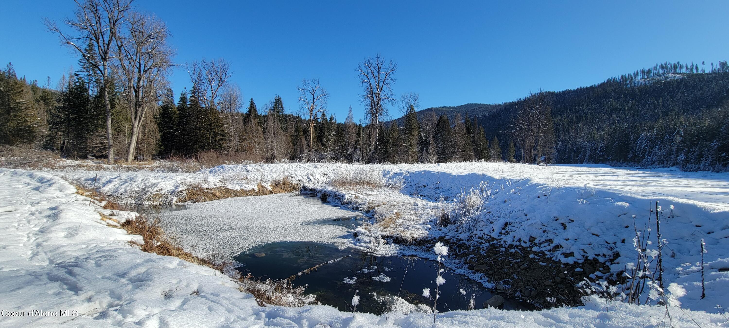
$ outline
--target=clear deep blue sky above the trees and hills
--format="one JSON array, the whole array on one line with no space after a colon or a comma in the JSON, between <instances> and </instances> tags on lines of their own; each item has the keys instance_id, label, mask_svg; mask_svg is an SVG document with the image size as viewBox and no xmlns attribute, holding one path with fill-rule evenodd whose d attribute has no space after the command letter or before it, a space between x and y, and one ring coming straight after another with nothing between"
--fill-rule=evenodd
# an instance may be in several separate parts
<instances>
[{"instance_id":1,"label":"clear deep blue sky above the trees and hills","mask_svg":"<svg viewBox=\"0 0 729 328\"><path fill-rule=\"evenodd\" d=\"M601 82L663 61L729 58L729 1L136 1L173 34L176 61L223 57L259 108L279 94L297 112L296 86L318 77L338 120L361 117L354 69L380 52L399 63L395 93L421 106L499 103L529 91ZM73 52L45 31L44 16L72 1L5 0L0 60L54 83ZM189 87L182 69L175 93ZM399 117L397 109L392 117Z\"/></svg>"}]
</instances>

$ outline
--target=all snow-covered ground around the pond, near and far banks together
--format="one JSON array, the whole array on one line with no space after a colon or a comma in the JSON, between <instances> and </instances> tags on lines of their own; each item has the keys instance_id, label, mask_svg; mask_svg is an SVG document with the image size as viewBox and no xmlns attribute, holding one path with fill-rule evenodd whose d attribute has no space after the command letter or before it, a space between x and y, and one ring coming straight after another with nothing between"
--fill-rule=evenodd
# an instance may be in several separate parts
<instances>
[{"instance_id":1,"label":"all snow-covered ground around the pond, near and far banks together","mask_svg":"<svg viewBox=\"0 0 729 328\"><path fill-rule=\"evenodd\" d=\"M327 192L331 195L332 201L341 203L344 207L372 210L370 214L375 218L389 222L386 226L375 224L366 235L358 237L356 242L359 246L366 247L369 243L371 249L397 251L397 246L378 241L378 235L397 233L444 235L448 238L490 236L497 238L499 243L521 245L528 244L529 238L534 237L538 238L534 245L537 250L545 251L550 257L564 262L580 262L590 257L605 259L608 254L617 251L620 257L610 263L614 272L623 270L625 263L634 261L635 251L631 242L634 237L632 216L635 215L641 224L651 215L650 201L659 200L663 207L661 213L663 238L668 240L670 247L666 249L668 256L664 257L666 267L664 280L687 289L687 294L679 297L684 309L672 310L673 323L677 324L680 321L682 325L695 325L693 323L695 320L704 326L729 324L727 318L717 314L717 309L714 308L717 304L727 308L729 303L729 297L725 296L729 294L729 272L725 270L729 268L728 173L686 173L671 169L650 171L611 168L604 165L539 167L505 163L443 165L291 163L222 165L203 169L198 173L72 169L49 173L83 184L85 187L91 187L98 174L96 183L100 192L118 196L139 195L140 200L154 193L169 195L168 199L172 200L176 192L184 192L185 188L192 186L250 189L259 181L267 184L286 177L303 183L306 187L315 188L319 192ZM87 203L84 204L85 202L79 202L78 198L81 196L73 195L72 187L66 182L44 173L4 170L0 174L2 185L12 186L0 190L3 193L0 195L0 199L4 202L3 208L16 208L13 211L0 213L2 231L4 233L11 230L20 231L12 233L13 236L31 235L25 241L3 238L3 248L7 255L3 256L2 267L14 269L4 269L0 275L3 281L18 281L17 284L8 284L14 286L18 292L12 294L14 297L0 299L3 308L20 309L39 304L80 306L86 304L85 297L91 295L89 300L96 302L93 306L105 311L96 320L108 319L108 322L180 320L179 323L190 324L199 322L192 321L192 317L195 316L195 311L202 311L199 307L192 307L197 305L206 307L206 304L213 303L222 306L220 312L225 311L222 309L238 307L242 309L233 311L236 313L235 319L246 318L249 321L235 321L233 326L254 323L272 325L277 322L282 326L302 325L304 318L307 319L308 327L313 327L319 322L332 327L348 325L367 327L375 324L429 326L430 319L423 314L409 316L389 314L380 317L358 314L356 321L350 322L348 320L351 320L351 313L340 313L325 306L257 308L248 295L235 289L224 288L223 286L230 282L223 277L215 276L211 269L130 248L123 242L130 236L124 235L121 230L104 227L93 208ZM361 176L367 177L368 180L379 178L381 187L362 188L356 185L348 187L347 184L331 184L332 180ZM440 208L444 206L457 208L458 199L463 198L463 195L469 193L472 188L488 193L484 203L469 216L471 222L477 223L475 225L477 228L463 232L434 227L433 219ZM669 210L671 205L674 208ZM39 228L34 230L30 223L26 223L27 220L41 222L36 223ZM85 228L87 227L85 222L88 222L88 228ZM75 224L79 223L82 226L76 227ZM55 230L58 231L54 233ZM701 238L705 238L709 249L709 252L704 254L707 297L703 300L699 299L700 267L696 265L699 258L698 241ZM623 243L623 239L627 241ZM28 242L29 240L32 242ZM64 246L52 249L46 246L55 243ZM84 245L83 251L79 251L81 245ZM561 249L554 251L556 245ZM50 254L53 260L47 260L42 263L43 265L33 262L36 257L28 254L33 254L38 249ZM114 254L113 262L109 254ZM109 256L109 262L105 262L105 256ZM125 258L129 260L124 260ZM15 267L6 264L7 261L15 263ZM58 262L69 262L74 266L71 269L64 269L66 280L48 278L50 272L58 271L51 267ZM41 272L46 271L49 273L44 276ZM136 280L141 279L138 272L147 271L148 273L141 275L147 280ZM31 272L36 272L37 276L44 278L36 279L38 282L34 285L26 286L22 279L27 279L26 276ZM175 276L176 274L179 276ZM109 275L114 278L109 279ZM98 276L107 277L107 280ZM136 278L132 278L134 276ZM15 280L7 280L10 278ZM78 281L84 281L82 279L90 282L102 279L104 283L98 284L107 284L104 286L106 289L102 292L92 283L79 284ZM76 283L69 285L63 281L76 281ZM109 289L114 290L109 288L111 281L118 285L115 288L120 292L109 292ZM44 288L46 285L52 287ZM164 289L192 289L190 287L198 286L211 288L215 296L200 290L199 297L188 297L189 291L182 292L181 289L178 291L178 297L171 298L180 303L171 307L167 307L170 300L162 300L160 297ZM38 292L38 289L42 292ZM97 292L99 296L94 299L93 295ZM28 301L20 297L23 294L42 294L46 300L27 297L30 300ZM56 300L47 300L49 297L56 297ZM64 297L76 298L72 302L61 302ZM119 298L124 301L118 300ZM204 299L204 302L200 299ZM159 304L152 305L155 301ZM439 323L449 327L509 327L510 325L585 327L590 324L601 327L644 327L660 324L664 319L664 308L614 302L610 305L610 311L605 312L604 304L600 304L601 302L593 299L592 303L581 308L530 313L493 309L453 311L443 313ZM138 305L147 309L138 310L139 308L136 308ZM189 311L175 310L173 309L175 306L182 306ZM207 308L205 311L208 311ZM168 318L173 312L176 313L174 318ZM233 316L230 313L218 313L213 310L211 313L218 316L215 320L221 321L209 323L206 321L206 325L221 326ZM273 319L274 317L278 319ZM21 323L28 318L0 318L0 320L15 320L12 322ZM86 322L85 320L93 322L91 319L82 318L74 322L79 321L76 324L80 324Z\"/></svg>"}]
</instances>

